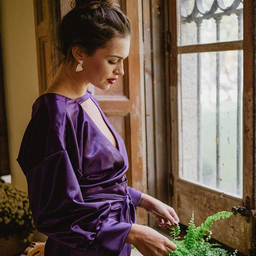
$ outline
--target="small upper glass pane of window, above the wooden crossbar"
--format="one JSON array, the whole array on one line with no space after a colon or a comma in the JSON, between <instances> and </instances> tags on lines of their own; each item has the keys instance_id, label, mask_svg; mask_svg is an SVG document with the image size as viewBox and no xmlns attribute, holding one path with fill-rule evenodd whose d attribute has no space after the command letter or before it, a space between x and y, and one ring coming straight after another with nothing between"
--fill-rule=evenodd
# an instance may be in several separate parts
<instances>
[{"instance_id":1,"label":"small upper glass pane of window, above the wooden crossbar","mask_svg":"<svg viewBox=\"0 0 256 256\"><path fill-rule=\"evenodd\" d=\"M235 0L218 1L177 0L178 6L178 46L208 44L243 39L243 4L229 6ZM201 6L201 8L199 8ZM222 8L222 10L220 9ZM197 11L199 10L199 12Z\"/></svg>"}]
</instances>

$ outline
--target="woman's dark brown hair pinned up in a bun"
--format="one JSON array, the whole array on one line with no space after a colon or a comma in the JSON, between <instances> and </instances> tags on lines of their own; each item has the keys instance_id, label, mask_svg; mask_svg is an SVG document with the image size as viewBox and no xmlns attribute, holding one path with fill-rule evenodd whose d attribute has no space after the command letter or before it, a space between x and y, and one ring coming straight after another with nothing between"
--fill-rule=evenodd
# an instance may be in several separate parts
<instances>
[{"instance_id":1,"label":"woman's dark brown hair pinned up in a bun","mask_svg":"<svg viewBox=\"0 0 256 256\"><path fill-rule=\"evenodd\" d=\"M75 0L70 6L72 9L57 29L59 46L56 49L62 55L60 63L66 62L66 67L69 61L73 64L72 47L75 45L92 56L97 49L104 48L109 39L131 36L131 21L119 9L116 0Z\"/></svg>"}]
</instances>

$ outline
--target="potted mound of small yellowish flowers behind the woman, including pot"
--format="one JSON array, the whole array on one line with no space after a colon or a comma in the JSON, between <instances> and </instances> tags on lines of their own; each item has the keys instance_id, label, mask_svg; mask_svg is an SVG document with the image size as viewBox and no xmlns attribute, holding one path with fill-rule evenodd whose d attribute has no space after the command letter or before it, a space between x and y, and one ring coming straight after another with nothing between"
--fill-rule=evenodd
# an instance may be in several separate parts
<instances>
[{"instance_id":1,"label":"potted mound of small yellowish flowers behind the woman, including pot","mask_svg":"<svg viewBox=\"0 0 256 256\"><path fill-rule=\"evenodd\" d=\"M35 226L26 192L0 182L0 248L15 255L32 242Z\"/></svg>"}]
</instances>

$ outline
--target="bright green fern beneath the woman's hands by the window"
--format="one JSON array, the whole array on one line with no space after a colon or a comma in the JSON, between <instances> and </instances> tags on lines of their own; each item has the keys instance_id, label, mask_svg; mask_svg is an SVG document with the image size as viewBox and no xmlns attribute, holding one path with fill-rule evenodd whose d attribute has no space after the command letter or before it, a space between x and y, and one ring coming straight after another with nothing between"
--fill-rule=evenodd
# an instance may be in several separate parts
<instances>
[{"instance_id":1,"label":"bright green fern beneath the woman's hands by the window","mask_svg":"<svg viewBox=\"0 0 256 256\"><path fill-rule=\"evenodd\" d=\"M170 228L170 240L177 245L176 251L171 251L168 256L235 256L237 250L231 255L225 249L220 247L220 244L210 244L208 241L211 239L212 231L211 226L214 220L220 218L229 218L233 215L232 212L217 212L214 215L209 216L201 226L196 227L194 224L194 212L192 218L189 221L188 229L186 230L187 235L184 236L183 240L178 240L180 234L180 226L172 226ZM206 237L205 237L206 236ZM204 238L205 237L205 238ZM132 249L136 250L136 247L132 245ZM164 254L165 255L165 254ZM165 255L166 256L166 255Z\"/></svg>"}]
</instances>

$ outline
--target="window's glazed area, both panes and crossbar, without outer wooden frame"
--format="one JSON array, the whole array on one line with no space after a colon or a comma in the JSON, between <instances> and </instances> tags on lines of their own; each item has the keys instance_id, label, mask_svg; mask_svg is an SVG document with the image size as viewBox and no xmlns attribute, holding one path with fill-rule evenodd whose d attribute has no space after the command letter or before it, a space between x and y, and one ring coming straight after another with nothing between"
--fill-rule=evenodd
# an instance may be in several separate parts
<instances>
[{"instance_id":1,"label":"window's glazed area, both panes and crossbar, without outer wooden frame","mask_svg":"<svg viewBox=\"0 0 256 256\"><path fill-rule=\"evenodd\" d=\"M179 1L178 45L242 39L240 1L232 8L202 3L199 12L194 1ZM180 48L179 159L180 177L242 198L243 51L237 43L237 50L230 44L221 52L212 52L212 44L204 52Z\"/></svg>"}]
</instances>

